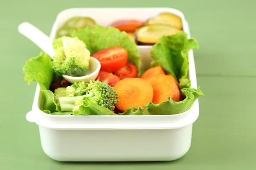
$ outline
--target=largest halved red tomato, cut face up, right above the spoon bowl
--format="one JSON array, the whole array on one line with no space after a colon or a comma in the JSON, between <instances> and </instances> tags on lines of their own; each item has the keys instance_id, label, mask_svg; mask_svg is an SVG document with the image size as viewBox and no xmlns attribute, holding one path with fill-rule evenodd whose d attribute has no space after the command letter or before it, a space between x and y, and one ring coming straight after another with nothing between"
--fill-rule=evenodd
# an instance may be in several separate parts
<instances>
[{"instance_id":1,"label":"largest halved red tomato, cut face up, right above the spoon bowl","mask_svg":"<svg viewBox=\"0 0 256 170\"><path fill-rule=\"evenodd\" d=\"M111 47L97 51L92 57L99 60L101 71L113 73L126 65L128 52L122 47Z\"/></svg>"}]
</instances>

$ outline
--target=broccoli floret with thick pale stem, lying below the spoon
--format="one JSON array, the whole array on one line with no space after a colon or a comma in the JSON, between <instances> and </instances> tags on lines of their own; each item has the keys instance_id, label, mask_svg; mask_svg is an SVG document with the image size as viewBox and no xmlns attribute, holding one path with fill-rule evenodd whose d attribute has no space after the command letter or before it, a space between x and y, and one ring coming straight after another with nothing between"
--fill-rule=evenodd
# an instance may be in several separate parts
<instances>
[{"instance_id":1,"label":"broccoli floret with thick pale stem, lying below the spoon","mask_svg":"<svg viewBox=\"0 0 256 170\"><path fill-rule=\"evenodd\" d=\"M97 105L114 111L118 102L118 94L110 85L98 80L87 83L87 92L82 96L60 97L59 103L61 111L78 111L84 100L89 100Z\"/></svg>"}]
</instances>

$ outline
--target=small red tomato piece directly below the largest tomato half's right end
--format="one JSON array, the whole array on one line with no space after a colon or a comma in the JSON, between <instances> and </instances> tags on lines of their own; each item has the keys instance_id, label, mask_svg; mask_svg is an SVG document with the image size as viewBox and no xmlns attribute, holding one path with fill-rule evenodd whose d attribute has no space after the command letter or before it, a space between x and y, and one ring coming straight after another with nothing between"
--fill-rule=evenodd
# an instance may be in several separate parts
<instances>
[{"instance_id":1,"label":"small red tomato piece directly below the largest tomato half's right end","mask_svg":"<svg viewBox=\"0 0 256 170\"><path fill-rule=\"evenodd\" d=\"M121 69L119 69L114 73L114 75L119 77L119 79L124 79L127 77L134 78L136 77L136 74L137 74L136 66L129 62L127 62L124 67L122 67Z\"/></svg>"}]
</instances>

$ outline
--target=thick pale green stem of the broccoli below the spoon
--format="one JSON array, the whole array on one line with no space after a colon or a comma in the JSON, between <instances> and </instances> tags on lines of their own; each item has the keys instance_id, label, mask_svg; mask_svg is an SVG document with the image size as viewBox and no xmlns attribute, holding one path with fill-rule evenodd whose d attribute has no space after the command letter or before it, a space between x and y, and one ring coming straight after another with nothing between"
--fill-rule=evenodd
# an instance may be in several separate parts
<instances>
[{"instance_id":1,"label":"thick pale green stem of the broccoli below the spoon","mask_svg":"<svg viewBox=\"0 0 256 170\"><path fill-rule=\"evenodd\" d=\"M75 105L75 102L77 99L83 99L87 95L83 96L74 96L74 97L59 97L59 105L61 108L61 111L73 111Z\"/></svg>"}]
</instances>

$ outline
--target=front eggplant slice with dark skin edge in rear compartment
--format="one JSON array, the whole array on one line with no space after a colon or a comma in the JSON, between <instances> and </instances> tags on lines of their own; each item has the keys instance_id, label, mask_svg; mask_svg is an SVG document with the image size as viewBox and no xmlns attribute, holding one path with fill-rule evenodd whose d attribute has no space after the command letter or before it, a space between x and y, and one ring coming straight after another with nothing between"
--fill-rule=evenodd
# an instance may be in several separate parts
<instances>
[{"instance_id":1,"label":"front eggplant slice with dark skin edge in rear compartment","mask_svg":"<svg viewBox=\"0 0 256 170\"><path fill-rule=\"evenodd\" d=\"M154 24L138 28L134 32L134 37L137 45L154 45L159 42L160 37L173 35L177 32L183 31L169 25Z\"/></svg>"}]
</instances>

